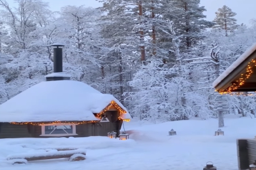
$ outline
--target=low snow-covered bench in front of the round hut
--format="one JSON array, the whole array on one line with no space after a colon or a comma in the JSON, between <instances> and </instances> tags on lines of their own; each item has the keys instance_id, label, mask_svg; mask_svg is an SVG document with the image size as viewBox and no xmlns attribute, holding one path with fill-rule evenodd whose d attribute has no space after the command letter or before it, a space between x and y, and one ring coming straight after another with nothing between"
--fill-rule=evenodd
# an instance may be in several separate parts
<instances>
[{"instance_id":1,"label":"low snow-covered bench in front of the round hut","mask_svg":"<svg viewBox=\"0 0 256 170\"><path fill-rule=\"evenodd\" d=\"M77 150L65 150L65 151L55 151L55 152L31 152L23 154L14 154L7 156L12 164L23 164L31 160L47 160L47 159L59 159L59 158L69 158L70 161L85 160L86 151L82 149Z\"/></svg>"}]
</instances>

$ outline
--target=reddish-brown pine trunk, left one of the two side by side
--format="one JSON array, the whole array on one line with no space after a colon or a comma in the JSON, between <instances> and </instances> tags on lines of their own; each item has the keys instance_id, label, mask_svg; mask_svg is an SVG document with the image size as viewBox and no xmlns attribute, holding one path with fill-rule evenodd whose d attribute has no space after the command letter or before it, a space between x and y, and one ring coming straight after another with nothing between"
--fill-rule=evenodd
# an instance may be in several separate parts
<instances>
[{"instance_id":1,"label":"reddish-brown pine trunk, left one of the two side by side","mask_svg":"<svg viewBox=\"0 0 256 170\"><path fill-rule=\"evenodd\" d=\"M142 10L142 1L139 1L139 19L141 21L141 25L143 23L142 21L142 15L143 15L143 10ZM142 63L144 63L144 61L146 60L146 53L145 53L145 46L144 44L144 31L142 26L139 28L139 33L141 35L141 61Z\"/></svg>"}]
</instances>

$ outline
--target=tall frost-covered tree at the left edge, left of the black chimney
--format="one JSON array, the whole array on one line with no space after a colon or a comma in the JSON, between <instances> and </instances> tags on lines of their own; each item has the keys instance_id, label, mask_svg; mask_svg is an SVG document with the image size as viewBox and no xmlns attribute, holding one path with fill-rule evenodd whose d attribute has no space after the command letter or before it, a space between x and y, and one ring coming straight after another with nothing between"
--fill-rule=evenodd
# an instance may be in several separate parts
<instances>
[{"instance_id":1,"label":"tall frost-covered tree at the left edge, left of the black chimney","mask_svg":"<svg viewBox=\"0 0 256 170\"><path fill-rule=\"evenodd\" d=\"M5 0L0 1L2 23L6 26L7 39L1 40L2 52L13 56L4 65L3 74L10 87L9 96L13 97L19 92L44 79L44 71L51 63L46 48L40 39L42 33L39 27L46 27L52 12L48 3L40 0L17 0L16 8L11 8Z\"/></svg>"}]
</instances>

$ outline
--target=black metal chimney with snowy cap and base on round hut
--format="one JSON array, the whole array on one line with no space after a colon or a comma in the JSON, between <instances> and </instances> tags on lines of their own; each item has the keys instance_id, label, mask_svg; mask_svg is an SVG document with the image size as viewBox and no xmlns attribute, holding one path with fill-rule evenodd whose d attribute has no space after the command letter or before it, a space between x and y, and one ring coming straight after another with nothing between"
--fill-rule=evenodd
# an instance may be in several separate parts
<instances>
[{"instance_id":1,"label":"black metal chimney with snowy cap and base on round hut","mask_svg":"<svg viewBox=\"0 0 256 170\"><path fill-rule=\"evenodd\" d=\"M59 42L55 42L50 46L55 46L56 48L53 48L53 73L46 75L46 80L70 80L71 76L63 73L62 48L65 45Z\"/></svg>"}]
</instances>

